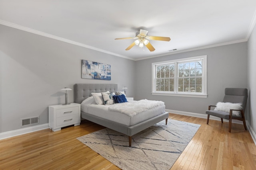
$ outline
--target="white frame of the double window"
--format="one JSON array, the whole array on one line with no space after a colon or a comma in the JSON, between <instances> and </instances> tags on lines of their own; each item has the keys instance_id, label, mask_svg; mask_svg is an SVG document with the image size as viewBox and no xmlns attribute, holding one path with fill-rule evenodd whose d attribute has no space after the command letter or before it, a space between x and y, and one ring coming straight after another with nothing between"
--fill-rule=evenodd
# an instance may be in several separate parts
<instances>
[{"instance_id":1,"label":"white frame of the double window","mask_svg":"<svg viewBox=\"0 0 256 170\"><path fill-rule=\"evenodd\" d=\"M202 68L202 93L196 92L178 92L177 90L177 77L178 77L178 63L180 62L189 62L193 60L202 59L203 68ZM174 78L174 92L158 92L155 90L156 87L156 66L164 64L173 64L175 65L175 78ZM207 55L190 57L184 59L176 59L170 61L161 61L157 63L152 63L152 95L161 95L161 96L182 96L182 97L194 97L194 98L207 98Z\"/></svg>"}]
</instances>

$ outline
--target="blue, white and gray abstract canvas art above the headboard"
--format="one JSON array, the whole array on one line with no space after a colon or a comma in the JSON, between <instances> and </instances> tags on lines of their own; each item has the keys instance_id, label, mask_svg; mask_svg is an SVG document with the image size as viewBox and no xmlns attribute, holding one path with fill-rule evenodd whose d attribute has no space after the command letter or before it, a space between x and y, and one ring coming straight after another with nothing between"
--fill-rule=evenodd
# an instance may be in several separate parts
<instances>
[{"instance_id":1,"label":"blue, white and gray abstract canvas art above the headboard","mask_svg":"<svg viewBox=\"0 0 256 170\"><path fill-rule=\"evenodd\" d=\"M111 65L82 60L82 78L111 80Z\"/></svg>"}]
</instances>

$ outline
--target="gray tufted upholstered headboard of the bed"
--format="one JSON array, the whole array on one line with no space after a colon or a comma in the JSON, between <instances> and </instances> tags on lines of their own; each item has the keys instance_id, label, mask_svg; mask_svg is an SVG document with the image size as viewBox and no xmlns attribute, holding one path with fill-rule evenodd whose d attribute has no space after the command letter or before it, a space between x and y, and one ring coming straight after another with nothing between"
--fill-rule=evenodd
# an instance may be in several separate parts
<instances>
[{"instance_id":1,"label":"gray tufted upholstered headboard of the bed","mask_svg":"<svg viewBox=\"0 0 256 170\"><path fill-rule=\"evenodd\" d=\"M91 93L116 92L117 84L75 84L75 102L82 103Z\"/></svg>"}]
</instances>

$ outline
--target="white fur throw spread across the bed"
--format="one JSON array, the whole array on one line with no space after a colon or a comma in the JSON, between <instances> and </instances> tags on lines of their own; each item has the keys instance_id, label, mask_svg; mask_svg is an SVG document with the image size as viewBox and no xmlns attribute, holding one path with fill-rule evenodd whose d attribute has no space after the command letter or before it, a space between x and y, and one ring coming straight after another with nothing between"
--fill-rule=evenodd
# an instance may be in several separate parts
<instances>
[{"instance_id":1,"label":"white fur throw spread across the bed","mask_svg":"<svg viewBox=\"0 0 256 170\"><path fill-rule=\"evenodd\" d=\"M113 104L110 107L108 107L108 109L110 111L118 111L126 115L133 116L142 111L146 111L156 106L163 106L163 105L164 105L164 102L162 101L144 99L136 102L134 101L134 102Z\"/></svg>"}]
</instances>

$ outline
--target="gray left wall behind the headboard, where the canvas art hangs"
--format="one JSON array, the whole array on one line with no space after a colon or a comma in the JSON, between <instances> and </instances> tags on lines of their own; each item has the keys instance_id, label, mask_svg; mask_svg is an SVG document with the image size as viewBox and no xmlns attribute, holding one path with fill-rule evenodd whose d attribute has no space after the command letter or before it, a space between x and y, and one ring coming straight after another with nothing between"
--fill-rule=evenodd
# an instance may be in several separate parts
<instances>
[{"instance_id":1,"label":"gray left wall behind the headboard, where the canvas art hangs","mask_svg":"<svg viewBox=\"0 0 256 170\"><path fill-rule=\"evenodd\" d=\"M111 65L111 80L81 78L81 60ZM76 83L114 83L134 96L135 61L0 25L0 133L21 129L20 119L40 116L48 123L48 106L63 104L60 89ZM74 102L74 90L68 91Z\"/></svg>"}]
</instances>

